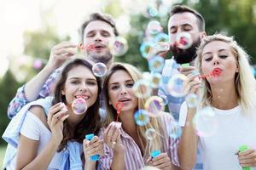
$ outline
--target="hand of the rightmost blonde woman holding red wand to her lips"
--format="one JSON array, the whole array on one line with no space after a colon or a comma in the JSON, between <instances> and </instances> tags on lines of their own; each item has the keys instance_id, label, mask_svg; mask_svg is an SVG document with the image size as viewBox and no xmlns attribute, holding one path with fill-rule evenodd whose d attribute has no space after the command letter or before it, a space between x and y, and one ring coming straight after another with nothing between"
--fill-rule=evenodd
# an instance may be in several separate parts
<instances>
[{"instance_id":1,"label":"hand of the rightmost blonde woman holding red wand to her lips","mask_svg":"<svg viewBox=\"0 0 256 170\"><path fill-rule=\"evenodd\" d=\"M201 81L198 78L199 74L189 74L184 82L184 93L187 94L197 94L199 93L199 88L201 87Z\"/></svg>"}]
</instances>

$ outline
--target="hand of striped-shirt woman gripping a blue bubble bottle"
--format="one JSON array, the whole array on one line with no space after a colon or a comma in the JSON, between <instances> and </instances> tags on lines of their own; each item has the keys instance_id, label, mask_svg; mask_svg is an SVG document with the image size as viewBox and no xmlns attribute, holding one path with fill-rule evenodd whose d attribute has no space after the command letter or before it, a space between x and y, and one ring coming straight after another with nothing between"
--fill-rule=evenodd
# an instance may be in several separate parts
<instances>
[{"instance_id":1,"label":"hand of striped-shirt woman gripping a blue bubble bottle","mask_svg":"<svg viewBox=\"0 0 256 170\"><path fill-rule=\"evenodd\" d=\"M149 166L157 167L160 169L172 169L172 163L167 153L160 153L160 155L156 156L155 158L149 157L146 163Z\"/></svg>"}]
</instances>

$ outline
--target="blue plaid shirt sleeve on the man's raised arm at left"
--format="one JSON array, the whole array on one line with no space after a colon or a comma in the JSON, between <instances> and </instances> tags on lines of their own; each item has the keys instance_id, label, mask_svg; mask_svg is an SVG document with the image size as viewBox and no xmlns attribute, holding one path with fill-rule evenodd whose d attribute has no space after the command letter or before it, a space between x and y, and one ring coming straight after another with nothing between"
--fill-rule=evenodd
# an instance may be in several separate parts
<instances>
[{"instance_id":1,"label":"blue plaid shirt sleeve on the man's raised arm at left","mask_svg":"<svg viewBox=\"0 0 256 170\"><path fill-rule=\"evenodd\" d=\"M56 69L49 76L47 81L44 83L44 86L41 88L37 99L45 98L45 97L49 96L49 94L51 94L51 92L53 91L54 85L55 85L56 78L58 78L60 75L61 75L61 68ZM25 85L18 88L15 98L12 99L11 102L9 103L7 115L9 116L10 119L12 117L14 117L24 105L31 102L28 99L26 99L26 94L24 91Z\"/></svg>"}]
</instances>

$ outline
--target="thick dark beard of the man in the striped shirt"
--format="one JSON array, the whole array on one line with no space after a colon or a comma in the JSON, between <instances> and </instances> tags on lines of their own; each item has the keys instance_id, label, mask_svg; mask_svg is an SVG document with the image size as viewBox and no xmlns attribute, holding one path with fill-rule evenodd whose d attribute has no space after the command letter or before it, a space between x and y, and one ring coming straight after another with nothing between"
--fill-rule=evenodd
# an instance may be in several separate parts
<instances>
[{"instance_id":1,"label":"thick dark beard of the man in the striped shirt","mask_svg":"<svg viewBox=\"0 0 256 170\"><path fill-rule=\"evenodd\" d=\"M177 48L177 46L171 46L171 51L177 64L184 64L193 61L196 58L196 49L201 43L200 37L192 43L187 49Z\"/></svg>"}]
</instances>

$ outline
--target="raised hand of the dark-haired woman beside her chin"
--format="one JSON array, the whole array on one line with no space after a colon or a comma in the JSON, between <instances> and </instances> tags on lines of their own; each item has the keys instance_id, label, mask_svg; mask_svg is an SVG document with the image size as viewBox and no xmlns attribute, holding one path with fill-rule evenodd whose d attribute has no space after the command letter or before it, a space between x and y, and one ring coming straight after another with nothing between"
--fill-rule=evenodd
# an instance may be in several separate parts
<instances>
[{"instance_id":1,"label":"raised hand of the dark-haired woman beside her chin","mask_svg":"<svg viewBox=\"0 0 256 170\"><path fill-rule=\"evenodd\" d=\"M47 123L51 131L51 138L56 144L61 144L63 139L63 122L67 119L67 106L63 103L58 103L49 108Z\"/></svg>"}]
</instances>

